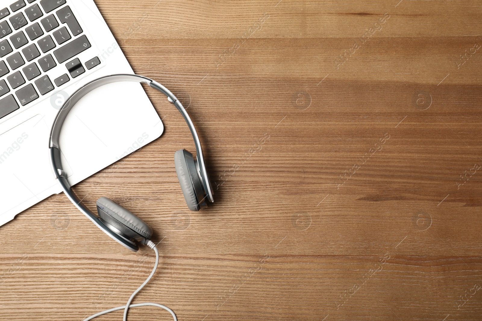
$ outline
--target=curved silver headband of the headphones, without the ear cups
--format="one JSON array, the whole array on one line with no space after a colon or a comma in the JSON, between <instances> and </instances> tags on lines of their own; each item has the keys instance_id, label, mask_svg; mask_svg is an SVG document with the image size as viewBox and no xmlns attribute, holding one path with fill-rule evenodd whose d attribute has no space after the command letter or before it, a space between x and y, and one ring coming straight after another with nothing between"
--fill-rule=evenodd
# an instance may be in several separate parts
<instances>
[{"instance_id":1,"label":"curved silver headband of the headphones, without the ear cups","mask_svg":"<svg viewBox=\"0 0 482 321\"><path fill-rule=\"evenodd\" d=\"M139 82L139 83L145 83L149 85L150 87L154 88L155 90L161 91L164 95L167 96L167 100L174 104L176 109L181 113L183 116L184 120L186 120L187 126L189 127L189 130L191 131L192 138L194 139L194 144L196 146L196 153L197 153L197 161L199 165L199 172L201 177L203 178L202 182L204 185L204 191L206 192L206 198L210 202L214 202L213 199L213 191L211 188L211 183L209 181L209 177L207 175L207 170L206 170L206 165L204 163L204 156L202 154L202 149L201 149L201 142L199 140L198 134L196 132L196 129L194 128L194 124L192 123L191 119L189 118L189 115L186 112L186 109L184 109L183 105L179 102L179 100L174 96L174 94L162 86L160 83L139 75L110 75L110 76L105 76L101 78L97 78L87 84L85 84L83 87L81 87L79 90L75 91L62 105L62 108L60 108L57 116L55 117L54 124L52 126L52 130L50 133L50 138L49 138L49 147L50 147L50 155L51 155L51 161L52 161L52 168L54 169L54 173L56 178L59 180L59 183L64 190L64 193L67 195L67 197L70 199L74 205L82 212L84 213L85 216L87 216L90 220L94 222L97 227L99 227L102 231L106 232L110 237L112 237L114 240L119 242L120 244L124 245L125 247L130 248L133 251L138 250L138 246L120 236L119 234L116 234L115 232L111 231L107 226L104 224L103 221L101 221L94 213L87 207L85 206L79 197L72 191L72 188L70 187L67 177L65 175L65 172L62 167L62 161L60 157L60 146L59 146L59 137L60 137L60 131L62 129L62 125L64 124L64 121L70 112L72 110L72 107L82 98L85 94L88 92L101 87L103 85L113 83L113 82L118 82L118 81L134 81L134 82Z\"/></svg>"}]
</instances>

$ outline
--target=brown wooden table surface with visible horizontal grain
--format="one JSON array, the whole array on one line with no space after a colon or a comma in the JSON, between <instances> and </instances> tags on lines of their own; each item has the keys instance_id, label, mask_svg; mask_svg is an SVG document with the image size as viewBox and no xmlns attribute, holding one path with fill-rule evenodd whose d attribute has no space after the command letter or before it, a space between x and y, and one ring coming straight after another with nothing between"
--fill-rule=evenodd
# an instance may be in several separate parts
<instances>
[{"instance_id":1,"label":"brown wooden table surface with visible horizontal grain","mask_svg":"<svg viewBox=\"0 0 482 321\"><path fill-rule=\"evenodd\" d=\"M75 188L153 227L160 267L134 303L193 321L481 320L481 5L399 1L96 1L134 71L189 105L216 186L188 211L173 154L194 144L148 90L164 134ZM64 194L0 235L2 320L123 305L154 262Z\"/></svg>"}]
</instances>

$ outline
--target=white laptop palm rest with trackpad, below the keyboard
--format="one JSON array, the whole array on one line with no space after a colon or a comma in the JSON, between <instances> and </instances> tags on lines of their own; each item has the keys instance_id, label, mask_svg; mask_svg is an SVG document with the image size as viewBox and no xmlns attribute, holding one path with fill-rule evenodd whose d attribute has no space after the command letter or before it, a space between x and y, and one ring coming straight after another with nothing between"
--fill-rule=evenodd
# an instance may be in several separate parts
<instances>
[{"instance_id":1,"label":"white laptop palm rest with trackpad, below the keyboard","mask_svg":"<svg viewBox=\"0 0 482 321\"><path fill-rule=\"evenodd\" d=\"M45 116L35 115L0 134L0 226L61 192L48 148L58 111L49 100L42 103L50 110ZM172 105L166 101L166 106ZM60 147L69 182L84 180L155 140L162 131L161 119L140 84L113 83L93 90L76 104L62 128Z\"/></svg>"}]
</instances>

